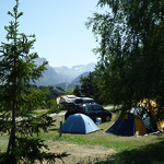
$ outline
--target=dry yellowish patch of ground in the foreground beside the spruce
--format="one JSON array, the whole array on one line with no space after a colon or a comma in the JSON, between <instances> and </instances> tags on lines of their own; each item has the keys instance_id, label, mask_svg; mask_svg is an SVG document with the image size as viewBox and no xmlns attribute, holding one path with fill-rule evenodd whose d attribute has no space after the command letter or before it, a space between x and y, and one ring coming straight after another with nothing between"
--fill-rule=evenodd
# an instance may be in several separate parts
<instances>
[{"instance_id":1,"label":"dry yellowish patch of ground in the foreground beside the spruce","mask_svg":"<svg viewBox=\"0 0 164 164\"><path fill-rule=\"evenodd\" d=\"M99 145L79 145L79 144L68 144L63 142L56 142L54 145L49 145L50 151L55 153L67 152L70 155L63 159L65 164L85 164L91 161L94 163L99 160L105 160L109 155L116 152L112 149L107 149ZM57 164L62 164L60 160L57 160Z\"/></svg>"}]
</instances>

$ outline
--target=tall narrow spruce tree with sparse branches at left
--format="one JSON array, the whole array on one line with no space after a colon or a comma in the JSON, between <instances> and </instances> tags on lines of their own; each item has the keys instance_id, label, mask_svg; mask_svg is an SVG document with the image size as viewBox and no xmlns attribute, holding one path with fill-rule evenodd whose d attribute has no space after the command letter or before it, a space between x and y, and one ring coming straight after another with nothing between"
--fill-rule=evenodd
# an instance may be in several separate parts
<instances>
[{"instance_id":1,"label":"tall narrow spruce tree with sparse branches at left","mask_svg":"<svg viewBox=\"0 0 164 164\"><path fill-rule=\"evenodd\" d=\"M5 26L8 42L0 46L0 131L9 133L7 152L0 154L0 163L34 163L35 160L40 163L48 160L50 163L62 155L40 151L48 148L33 136L40 130L46 131L54 120L47 114L38 117L28 115L45 99L45 90L36 90L30 83L42 77L47 62L39 67L35 65L34 59L38 55L30 54L35 36L19 33L17 19L23 13L17 12L19 0L15 2L13 12L8 12L14 20Z\"/></svg>"}]
</instances>

